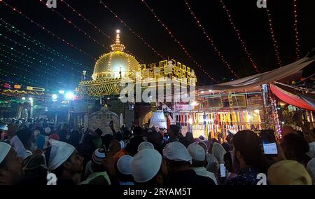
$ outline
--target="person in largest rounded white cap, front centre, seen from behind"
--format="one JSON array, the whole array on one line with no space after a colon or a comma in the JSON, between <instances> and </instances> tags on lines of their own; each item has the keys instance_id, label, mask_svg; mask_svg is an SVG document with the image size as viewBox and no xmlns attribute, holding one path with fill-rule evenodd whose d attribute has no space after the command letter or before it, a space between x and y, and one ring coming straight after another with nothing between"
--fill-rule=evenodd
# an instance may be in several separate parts
<instances>
[{"instance_id":1,"label":"person in largest rounded white cap, front centre, seen from behind","mask_svg":"<svg viewBox=\"0 0 315 199\"><path fill-rule=\"evenodd\" d=\"M163 183L162 156L154 149L139 151L130 162L132 176L136 184L158 186Z\"/></svg>"}]
</instances>

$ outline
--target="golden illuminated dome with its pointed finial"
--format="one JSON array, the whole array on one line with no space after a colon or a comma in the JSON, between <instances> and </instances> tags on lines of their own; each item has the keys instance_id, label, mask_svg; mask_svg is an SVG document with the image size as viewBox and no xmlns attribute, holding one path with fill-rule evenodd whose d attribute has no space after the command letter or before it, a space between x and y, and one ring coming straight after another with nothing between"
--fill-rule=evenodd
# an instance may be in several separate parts
<instances>
[{"instance_id":1,"label":"golden illuminated dome with its pointed finial","mask_svg":"<svg viewBox=\"0 0 315 199\"><path fill-rule=\"evenodd\" d=\"M125 46L120 43L119 33L120 31L117 30L116 43L111 45L113 51L102 55L97 60L92 75L93 80L120 77L133 78L135 71L141 71L139 62L132 55L123 52Z\"/></svg>"}]
</instances>

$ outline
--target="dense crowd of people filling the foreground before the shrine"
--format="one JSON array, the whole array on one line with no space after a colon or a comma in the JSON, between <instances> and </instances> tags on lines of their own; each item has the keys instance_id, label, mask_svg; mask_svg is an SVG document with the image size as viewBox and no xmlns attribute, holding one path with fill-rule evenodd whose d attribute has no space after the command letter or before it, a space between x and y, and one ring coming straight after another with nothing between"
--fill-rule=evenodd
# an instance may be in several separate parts
<instances>
[{"instance_id":1,"label":"dense crowd of people filling the foreground before the shrine","mask_svg":"<svg viewBox=\"0 0 315 199\"><path fill-rule=\"evenodd\" d=\"M111 132L56 128L45 121L4 121L0 184L32 185L311 185L315 182L315 134L285 126L277 156L266 156L251 130L224 142L184 137L181 127L133 126ZM263 181L265 175L265 181Z\"/></svg>"}]
</instances>

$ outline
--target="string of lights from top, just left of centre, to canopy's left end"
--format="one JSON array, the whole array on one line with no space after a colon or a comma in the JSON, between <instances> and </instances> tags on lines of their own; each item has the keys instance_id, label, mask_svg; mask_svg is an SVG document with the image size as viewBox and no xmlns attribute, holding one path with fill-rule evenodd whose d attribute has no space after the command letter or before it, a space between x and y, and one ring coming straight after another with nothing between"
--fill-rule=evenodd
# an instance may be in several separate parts
<instances>
[{"instance_id":1,"label":"string of lights from top, just left of centre, to canopy's left end","mask_svg":"<svg viewBox=\"0 0 315 199\"><path fill-rule=\"evenodd\" d=\"M196 62L196 60L188 53L188 51L187 51L186 48L183 46L183 44L181 44L181 42L180 42L178 39L176 39L176 37L174 36L174 34L172 34L172 32L171 32L171 31L169 30L169 28L165 25L165 23L163 23L162 20L160 20L160 18L158 18L158 15L155 14L155 12L153 11L153 9L152 9L150 6L148 6L148 4L146 4L146 1L144 1L144 0L141 0L141 1L144 2L144 4L146 5L146 8L148 8L148 10L151 11L151 13L153 14L155 20L158 20L158 22L162 25L162 27L165 28L165 30L166 30L167 33L172 37L172 39L174 39L174 41L176 41L176 43L179 44L179 46L181 47L181 49L183 50L183 52L190 58L190 60L193 60L193 62L197 65L197 67L200 67L200 69L201 69L205 74L207 74L207 76L208 76L209 78L211 78L211 80L216 81L216 80L215 80L207 71L205 71L204 68L203 68L200 64L198 64L198 63ZM218 82L218 81L216 81L216 82Z\"/></svg>"}]
</instances>

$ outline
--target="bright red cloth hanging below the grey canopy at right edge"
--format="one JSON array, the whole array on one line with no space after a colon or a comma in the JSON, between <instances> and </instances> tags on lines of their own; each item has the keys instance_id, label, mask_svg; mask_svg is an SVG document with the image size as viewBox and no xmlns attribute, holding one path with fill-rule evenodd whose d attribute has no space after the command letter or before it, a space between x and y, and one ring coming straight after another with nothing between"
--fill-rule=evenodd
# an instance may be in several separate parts
<instances>
[{"instance_id":1,"label":"bright red cloth hanging below the grey canopy at right edge","mask_svg":"<svg viewBox=\"0 0 315 199\"><path fill-rule=\"evenodd\" d=\"M274 84L270 84L270 89L272 90L274 95L276 95L276 97L279 97L279 99L281 99L283 102L286 102L287 104L292 104L295 107L315 111L315 109L311 107L311 105L309 105L302 98L294 95L293 93L287 92L286 90L283 90Z\"/></svg>"}]
</instances>

